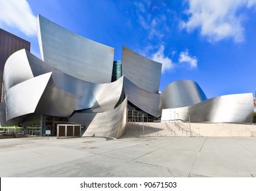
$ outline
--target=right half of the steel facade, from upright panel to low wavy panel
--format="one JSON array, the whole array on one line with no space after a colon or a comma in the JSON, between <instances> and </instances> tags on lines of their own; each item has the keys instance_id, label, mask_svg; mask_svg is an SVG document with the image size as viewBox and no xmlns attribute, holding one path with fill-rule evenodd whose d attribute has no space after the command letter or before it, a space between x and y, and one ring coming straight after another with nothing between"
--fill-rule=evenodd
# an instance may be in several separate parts
<instances>
[{"instance_id":1,"label":"right half of the steel facade, from upright panel to low wavy panel","mask_svg":"<svg viewBox=\"0 0 256 191\"><path fill-rule=\"evenodd\" d=\"M154 117L162 116L162 120L187 120L190 115L191 120L196 122L253 121L251 94L226 95L207 100L201 87L192 80L177 80L158 93L159 72L159 63L123 47L125 95L131 104L142 111ZM241 100L246 100L246 104Z\"/></svg>"}]
</instances>

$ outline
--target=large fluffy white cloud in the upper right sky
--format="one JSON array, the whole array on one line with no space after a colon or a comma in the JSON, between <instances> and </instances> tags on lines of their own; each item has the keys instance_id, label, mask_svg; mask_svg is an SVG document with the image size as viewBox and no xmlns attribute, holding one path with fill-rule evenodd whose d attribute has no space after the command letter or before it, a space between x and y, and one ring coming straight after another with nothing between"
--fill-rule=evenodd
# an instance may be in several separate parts
<instances>
[{"instance_id":1,"label":"large fluffy white cloud in the upper right sky","mask_svg":"<svg viewBox=\"0 0 256 191\"><path fill-rule=\"evenodd\" d=\"M201 30L201 35L210 42L233 38L235 42L244 41L244 14L241 8L256 6L255 0L187 0L190 18L181 23L181 27L192 31Z\"/></svg>"}]
</instances>

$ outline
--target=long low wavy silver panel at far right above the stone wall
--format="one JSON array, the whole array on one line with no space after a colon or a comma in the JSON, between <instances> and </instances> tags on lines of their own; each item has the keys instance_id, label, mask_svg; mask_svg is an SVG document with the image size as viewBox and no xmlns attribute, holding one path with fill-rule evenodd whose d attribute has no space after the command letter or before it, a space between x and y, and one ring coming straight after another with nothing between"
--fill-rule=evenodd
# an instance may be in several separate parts
<instances>
[{"instance_id":1,"label":"long low wavy silver panel at far right above the stone wall","mask_svg":"<svg viewBox=\"0 0 256 191\"><path fill-rule=\"evenodd\" d=\"M192 122L252 123L253 94L222 95L192 106L164 109L161 120L177 119L179 116L179 119L188 121L188 115Z\"/></svg>"}]
</instances>

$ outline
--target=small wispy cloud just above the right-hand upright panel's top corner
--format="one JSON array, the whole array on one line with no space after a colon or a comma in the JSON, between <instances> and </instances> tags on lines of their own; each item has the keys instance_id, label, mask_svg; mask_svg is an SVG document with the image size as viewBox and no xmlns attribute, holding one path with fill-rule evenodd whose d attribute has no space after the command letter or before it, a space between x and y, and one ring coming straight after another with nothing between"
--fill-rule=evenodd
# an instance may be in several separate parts
<instances>
[{"instance_id":1,"label":"small wispy cloud just above the right-hand upright panel's top corner","mask_svg":"<svg viewBox=\"0 0 256 191\"><path fill-rule=\"evenodd\" d=\"M151 57L153 61L157 61L159 63L162 63L162 73L166 72L167 70L171 70L174 68L174 64L172 63L172 60L168 57L164 56L164 46L160 46L159 50L153 56Z\"/></svg>"}]
</instances>

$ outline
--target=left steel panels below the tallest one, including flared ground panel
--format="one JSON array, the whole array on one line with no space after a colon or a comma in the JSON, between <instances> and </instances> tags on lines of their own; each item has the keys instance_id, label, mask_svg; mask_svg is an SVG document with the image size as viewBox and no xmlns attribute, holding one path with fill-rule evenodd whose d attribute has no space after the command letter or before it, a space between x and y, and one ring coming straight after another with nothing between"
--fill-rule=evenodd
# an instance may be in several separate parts
<instances>
[{"instance_id":1,"label":"left steel panels below the tallest one, including flared ground panel","mask_svg":"<svg viewBox=\"0 0 256 191\"><path fill-rule=\"evenodd\" d=\"M114 83L89 83L53 68L25 50L14 53L13 57L7 63L10 70L5 71L5 80L15 82L6 89L7 120L29 113L71 116L69 121L88 121L86 136L92 131L97 136L116 138L125 134L127 99L116 107L123 91L123 77ZM16 80L11 68L18 64L25 70L24 76L26 72L31 74L29 79ZM97 126L105 128L98 130Z\"/></svg>"}]
</instances>

